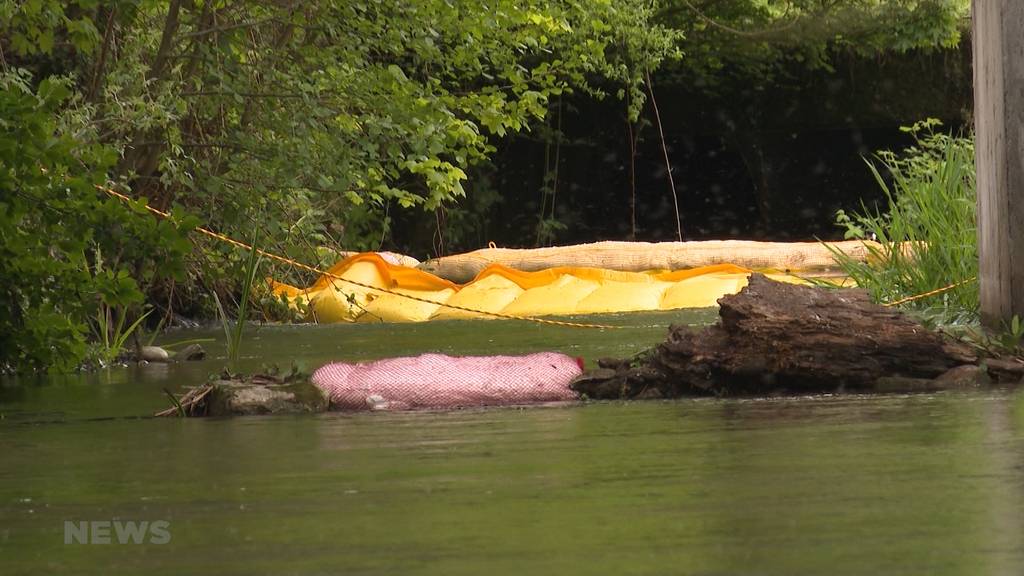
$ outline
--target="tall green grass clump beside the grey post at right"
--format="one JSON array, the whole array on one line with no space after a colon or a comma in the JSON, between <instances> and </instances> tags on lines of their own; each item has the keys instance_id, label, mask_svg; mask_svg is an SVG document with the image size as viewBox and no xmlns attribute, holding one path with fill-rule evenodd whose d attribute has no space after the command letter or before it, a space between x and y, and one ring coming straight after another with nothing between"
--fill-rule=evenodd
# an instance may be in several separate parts
<instances>
[{"instance_id":1,"label":"tall green grass clump beside the grey post at right","mask_svg":"<svg viewBox=\"0 0 1024 576\"><path fill-rule=\"evenodd\" d=\"M868 261L834 254L877 301L962 283L907 304L948 324L973 321L978 314L978 284L971 281L978 275L974 142L935 131L938 124L928 120L904 128L914 138L912 147L900 154L881 152L867 162L885 193L884 211L862 204L859 214L837 214L847 239L880 243L867 245Z\"/></svg>"}]
</instances>

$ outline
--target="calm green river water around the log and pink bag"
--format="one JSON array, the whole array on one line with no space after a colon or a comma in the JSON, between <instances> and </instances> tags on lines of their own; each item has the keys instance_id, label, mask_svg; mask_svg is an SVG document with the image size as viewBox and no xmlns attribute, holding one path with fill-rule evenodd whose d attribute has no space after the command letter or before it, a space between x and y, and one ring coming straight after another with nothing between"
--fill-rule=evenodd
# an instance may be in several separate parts
<instances>
[{"instance_id":1,"label":"calm green river water around the log and pink bag","mask_svg":"<svg viewBox=\"0 0 1024 576\"><path fill-rule=\"evenodd\" d=\"M428 351L592 362L713 317L268 326L243 368ZM167 340L198 336L217 333ZM2 382L0 574L1024 573L1015 390L145 417L223 366L207 347ZM87 522L163 523L169 542L111 528L112 543L66 543Z\"/></svg>"}]
</instances>

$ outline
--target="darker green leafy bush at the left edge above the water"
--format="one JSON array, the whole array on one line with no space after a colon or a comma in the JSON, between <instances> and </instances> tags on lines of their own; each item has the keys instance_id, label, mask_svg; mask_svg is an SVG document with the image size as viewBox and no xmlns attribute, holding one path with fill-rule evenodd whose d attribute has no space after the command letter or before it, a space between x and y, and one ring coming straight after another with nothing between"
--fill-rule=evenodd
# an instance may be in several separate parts
<instances>
[{"instance_id":1,"label":"darker green leafy bush at the left edge above the water","mask_svg":"<svg viewBox=\"0 0 1024 576\"><path fill-rule=\"evenodd\" d=\"M72 369L90 330L114 338L108 349L123 343L139 282L182 275L190 249L188 222L140 217L142 203L95 190L115 155L58 129L70 93L66 81L33 90L24 73L0 75L0 370Z\"/></svg>"}]
</instances>

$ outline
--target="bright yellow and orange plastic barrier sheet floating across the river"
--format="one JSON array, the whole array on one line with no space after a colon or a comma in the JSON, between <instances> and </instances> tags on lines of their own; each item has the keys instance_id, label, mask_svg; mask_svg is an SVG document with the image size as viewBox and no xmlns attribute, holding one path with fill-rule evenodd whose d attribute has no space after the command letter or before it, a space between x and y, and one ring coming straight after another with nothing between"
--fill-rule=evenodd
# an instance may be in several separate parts
<instances>
[{"instance_id":1,"label":"bright yellow and orange plastic barrier sheet floating across the river","mask_svg":"<svg viewBox=\"0 0 1024 576\"><path fill-rule=\"evenodd\" d=\"M520 272L493 264L472 282L458 285L388 263L374 253L356 254L328 272L308 288L274 282L273 292L293 304L306 304L315 322L422 322L494 318L486 313L524 317L714 306L718 298L745 286L751 274L732 264L668 273L588 268Z\"/></svg>"}]
</instances>

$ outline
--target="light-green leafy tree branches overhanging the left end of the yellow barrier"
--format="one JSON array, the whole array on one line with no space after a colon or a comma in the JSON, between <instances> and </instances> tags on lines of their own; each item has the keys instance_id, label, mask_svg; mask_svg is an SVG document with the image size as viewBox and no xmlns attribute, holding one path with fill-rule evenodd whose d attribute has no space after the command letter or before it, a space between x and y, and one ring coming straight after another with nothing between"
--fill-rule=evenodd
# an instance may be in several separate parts
<instances>
[{"instance_id":1,"label":"light-green leafy tree branches overhanging the left end of the yellow barrier","mask_svg":"<svg viewBox=\"0 0 1024 576\"><path fill-rule=\"evenodd\" d=\"M463 201L467 170L553 96L629 92L638 109L643 72L677 53L652 14L647 0L4 1L0 68L67 75L57 123L116 151L113 179L136 197L315 261L324 245L377 249L389 211ZM244 255L204 251L191 273L237 292ZM176 294L203 298L195 284Z\"/></svg>"}]
</instances>

